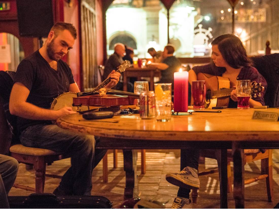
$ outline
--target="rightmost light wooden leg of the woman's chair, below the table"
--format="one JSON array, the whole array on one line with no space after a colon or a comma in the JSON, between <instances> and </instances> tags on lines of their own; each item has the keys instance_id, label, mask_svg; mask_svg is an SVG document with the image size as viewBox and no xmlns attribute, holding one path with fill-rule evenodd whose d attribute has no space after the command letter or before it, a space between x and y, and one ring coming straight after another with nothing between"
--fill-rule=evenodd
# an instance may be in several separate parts
<instances>
[{"instance_id":1,"label":"rightmost light wooden leg of the woman's chair, below the table","mask_svg":"<svg viewBox=\"0 0 279 209\"><path fill-rule=\"evenodd\" d=\"M267 198L269 202L273 202L272 149L267 151L269 152L268 158L261 160L261 171L262 174L268 174L268 177L266 178Z\"/></svg>"}]
</instances>

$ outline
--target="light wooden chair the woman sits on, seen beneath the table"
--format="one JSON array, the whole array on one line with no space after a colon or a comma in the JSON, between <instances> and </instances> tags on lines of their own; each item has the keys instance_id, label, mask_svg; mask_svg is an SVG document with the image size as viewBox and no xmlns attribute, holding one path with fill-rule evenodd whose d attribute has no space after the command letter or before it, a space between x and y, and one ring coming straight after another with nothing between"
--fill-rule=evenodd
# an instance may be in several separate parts
<instances>
[{"instance_id":1,"label":"light wooden chair the woman sits on, seen beneath the table","mask_svg":"<svg viewBox=\"0 0 279 209\"><path fill-rule=\"evenodd\" d=\"M217 159L218 167L221 165L221 159L219 159L217 152L219 150L200 150L200 156L202 157L208 157L212 159ZM250 184L252 182L261 180L261 179L266 179L266 190L267 190L267 196L268 196L268 201L272 202L273 201L273 179L272 179L272 150L265 150L264 153L262 153L258 149L245 149L244 150L244 162L252 162L256 160L261 160L261 175L255 178L247 179L245 180L244 184ZM228 157L227 157L227 171L228 171L228 192L232 192L232 175L231 175L231 167L230 167L230 162L233 162L233 157L232 157L232 150L228 150ZM205 172L200 172L199 176L207 175L210 173L215 173L218 172L218 169L210 170L210 171L205 171ZM221 177L219 176L219 179ZM198 198L198 189L193 189L192 193L192 200L193 203L197 202Z\"/></svg>"}]
</instances>

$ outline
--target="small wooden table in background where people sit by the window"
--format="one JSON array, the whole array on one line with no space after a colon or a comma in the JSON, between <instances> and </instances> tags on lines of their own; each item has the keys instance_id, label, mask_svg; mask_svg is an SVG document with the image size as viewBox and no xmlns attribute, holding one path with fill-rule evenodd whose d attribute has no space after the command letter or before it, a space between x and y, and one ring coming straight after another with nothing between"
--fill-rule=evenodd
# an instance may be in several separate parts
<instances>
[{"instance_id":1,"label":"small wooden table in background where people sit by the window","mask_svg":"<svg viewBox=\"0 0 279 209\"><path fill-rule=\"evenodd\" d=\"M149 90L154 90L154 77L160 77L161 71L156 67L129 67L123 72L123 91L127 91L128 77L136 77L137 81L141 80L141 77L150 78Z\"/></svg>"}]
</instances>

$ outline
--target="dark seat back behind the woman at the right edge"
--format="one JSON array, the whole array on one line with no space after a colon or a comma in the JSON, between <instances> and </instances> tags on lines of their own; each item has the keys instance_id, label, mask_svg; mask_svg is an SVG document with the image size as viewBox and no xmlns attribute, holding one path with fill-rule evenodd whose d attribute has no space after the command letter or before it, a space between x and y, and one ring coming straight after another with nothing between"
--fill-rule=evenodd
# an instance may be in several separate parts
<instances>
[{"instance_id":1,"label":"dark seat back behind the woman at the right edge","mask_svg":"<svg viewBox=\"0 0 279 209\"><path fill-rule=\"evenodd\" d=\"M264 95L265 105L279 105L279 53L251 57L254 66L266 79L267 89Z\"/></svg>"}]
</instances>

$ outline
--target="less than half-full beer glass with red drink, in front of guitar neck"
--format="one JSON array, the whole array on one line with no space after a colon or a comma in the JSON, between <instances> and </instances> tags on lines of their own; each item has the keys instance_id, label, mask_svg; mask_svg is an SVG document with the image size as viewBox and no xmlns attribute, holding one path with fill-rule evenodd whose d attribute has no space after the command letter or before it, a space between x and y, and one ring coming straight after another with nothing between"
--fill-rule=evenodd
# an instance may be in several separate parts
<instances>
[{"instance_id":1,"label":"less than half-full beer glass with red drink, in front of guitar neck","mask_svg":"<svg viewBox=\"0 0 279 209\"><path fill-rule=\"evenodd\" d=\"M251 81L236 81L237 109L249 109L249 99L251 96Z\"/></svg>"}]
</instances>

